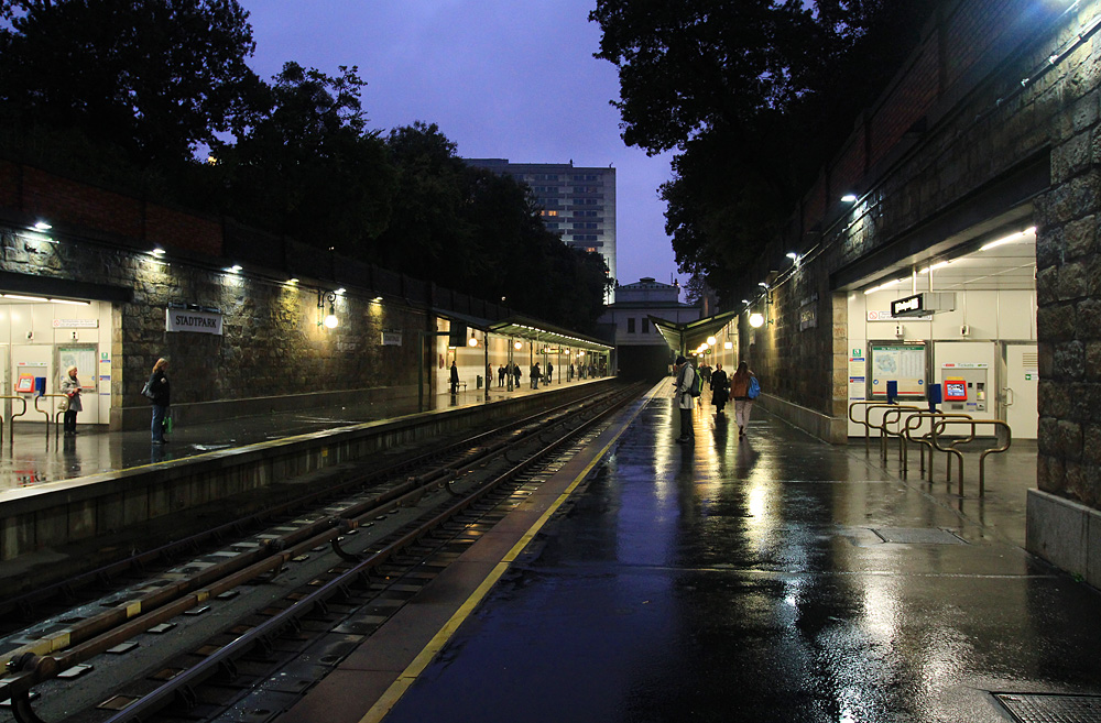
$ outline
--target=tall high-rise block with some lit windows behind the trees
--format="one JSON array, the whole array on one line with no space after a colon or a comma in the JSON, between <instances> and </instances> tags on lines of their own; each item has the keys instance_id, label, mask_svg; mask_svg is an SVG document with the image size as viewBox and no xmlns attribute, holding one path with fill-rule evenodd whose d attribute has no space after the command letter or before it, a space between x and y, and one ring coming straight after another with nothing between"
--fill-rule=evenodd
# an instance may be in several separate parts
<instances>
[{"instance_id":1,"label":"tall high-rise block with some lit windows behind the trees","mask_svg":"<svg viewBox=\"0 0 1101 723\"><path fill-rule=\"evenodd\" d=\"M467 158L479 168L527 184L543 208L543 222L568 247L599 253L615 278L615 168L582 168L569 163L510 163L508 158ZM614 302L609 292L608 302Z\"/></svg>"}]
</instances>

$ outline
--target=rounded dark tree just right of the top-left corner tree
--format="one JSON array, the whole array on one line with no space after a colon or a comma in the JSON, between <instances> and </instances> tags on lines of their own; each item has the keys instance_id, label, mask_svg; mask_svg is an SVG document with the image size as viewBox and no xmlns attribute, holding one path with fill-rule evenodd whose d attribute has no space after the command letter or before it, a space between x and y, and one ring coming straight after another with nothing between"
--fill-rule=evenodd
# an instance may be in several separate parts
<instances>
[{"instance_id":1,"label":"rounded dark tree just right of the top-left corner tree","mask_svg":"<svg viewBox=\"0 0 1101 723\"><path fill-rule=\"evenodd\" d=\"M366 130L356 67L328 76L286 63L254 96L236 144L214 155L239 220L348 255L370 253L388 227L394 172Z\"/></svg>"}]
</instances>

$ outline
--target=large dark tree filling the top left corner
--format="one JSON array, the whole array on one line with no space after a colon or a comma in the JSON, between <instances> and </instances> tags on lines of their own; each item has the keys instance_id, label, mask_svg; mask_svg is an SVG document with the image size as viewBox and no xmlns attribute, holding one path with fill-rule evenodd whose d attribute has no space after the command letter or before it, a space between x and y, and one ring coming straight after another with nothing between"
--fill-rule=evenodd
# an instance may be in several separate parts
<instances>
[{"instance_id":1,"label":"large dark tree filling the top left corner","mask_svg":"<svg viewBox=\"0 0 1101 723\"><path fill-rule=\"evenodd\" d=\"M237 0L14 0L0 6L0 102L28 131L79 129L145 163L231 129L254 81Z\"/></svg>"}]
</instances>

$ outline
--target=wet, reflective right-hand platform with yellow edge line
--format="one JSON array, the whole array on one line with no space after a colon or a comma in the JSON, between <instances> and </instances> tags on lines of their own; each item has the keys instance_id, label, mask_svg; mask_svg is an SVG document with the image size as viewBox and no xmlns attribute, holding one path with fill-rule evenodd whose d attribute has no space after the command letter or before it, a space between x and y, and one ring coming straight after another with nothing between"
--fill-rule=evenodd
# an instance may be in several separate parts
<instances>
[{"instance_id":1,"label":"wet, reflective right-hand platform with yellow edge line","mask_svg":"<svg viewBox=\"0 0 1101 723\"><path fill-rule=\"evenodd\" d=\"M677 426L666 380L273 720L1101 720L1101 595L1022 547L1034 446L961 499L760 408Z\"/></svg>"}]
</instances>

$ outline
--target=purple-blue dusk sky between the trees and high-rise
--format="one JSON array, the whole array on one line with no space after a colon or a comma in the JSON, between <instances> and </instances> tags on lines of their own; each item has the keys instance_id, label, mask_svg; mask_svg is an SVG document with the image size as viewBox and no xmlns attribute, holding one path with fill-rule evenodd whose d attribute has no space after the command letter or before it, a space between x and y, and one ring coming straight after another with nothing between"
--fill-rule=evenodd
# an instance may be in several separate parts
<instances>
[{"instance_id":1,"label":"purple-blue dusk sky between the trees and high-rise","mask_svg":"<svg viewBox=\"0 0 1101 723\"><path fill-rule=\"evenodd\" d=\"M614 165L620 283L676 273L656 190L671 156L620 140L615 66L592 57L592 0L240 1L262 78L285 61L329 75L358 65L370 128L421 120L464 157Z\"/></svg>"}]
</instances>

